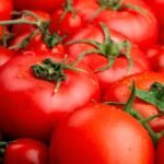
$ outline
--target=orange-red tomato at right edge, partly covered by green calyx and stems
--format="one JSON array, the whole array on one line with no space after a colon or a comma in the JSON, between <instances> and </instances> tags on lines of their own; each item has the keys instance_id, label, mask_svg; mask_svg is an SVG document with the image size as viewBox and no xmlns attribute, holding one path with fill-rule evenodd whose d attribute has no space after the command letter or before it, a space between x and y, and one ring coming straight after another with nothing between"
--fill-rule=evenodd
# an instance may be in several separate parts
<instances>
[{"instance_id":1,"label":"orange-red tomato at right edge, partly covered by green calyx and stems","mask_svg":"<svg viewBox=\"0 0 164 164\"><path fill-rule=\"evenodd\" d=\"M113 83L110 87L108 87L108 90L103 95L103 101L127 103L129 95L131 93L130 86L132 85L132 81L136 82L136 86L138 90L142 90L143 92L147 92L147 91L150 91L150 89L152 87L152 84L154 83L164 84L164 75L160 72L143 72L143 73L138 73L138 74L124 78L122 80L119 80ZM157 93L156 89L155 91ZM163 91L163 89L159 91ZM159 96L154 95L154 97L160 101L163 96L162 95L160 96L159 94ZM154 102L154 101L151 101L151 102ZM151 102L150 101L147 102L147 99L142 99L139 96L136 96L133 108L137 112L139 112L144 118L161 114L162 112L159 109L159 107L155 104L152 104ZM161 117L154 118L149 124L154 131L161 131L164 129L164 117L161 116Z\"/></svg>"}]
</instances>

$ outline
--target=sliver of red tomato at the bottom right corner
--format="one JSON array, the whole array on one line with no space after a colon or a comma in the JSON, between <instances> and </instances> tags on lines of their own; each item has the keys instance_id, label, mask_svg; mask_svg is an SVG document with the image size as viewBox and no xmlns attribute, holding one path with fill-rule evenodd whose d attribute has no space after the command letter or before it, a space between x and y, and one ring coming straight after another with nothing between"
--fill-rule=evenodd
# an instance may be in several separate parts
<instances>
[{"instance_id":1,"label":"sliver of red tomato at the bottom right corner","mask_svg":"<svg viewBox=\"0 0 164 164\"><path fill-rule=\"evenodd\" d=\"M157 142L155 164L163 164L164 163L163 150L164 150L164 137L162 137Z\"/></svg>"}]
</instances>

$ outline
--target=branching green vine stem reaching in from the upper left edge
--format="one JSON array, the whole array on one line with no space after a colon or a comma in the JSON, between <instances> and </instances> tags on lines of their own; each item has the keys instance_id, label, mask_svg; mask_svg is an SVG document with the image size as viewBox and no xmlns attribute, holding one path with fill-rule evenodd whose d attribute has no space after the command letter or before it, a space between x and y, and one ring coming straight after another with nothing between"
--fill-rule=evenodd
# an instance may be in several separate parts
<instances>
[{"instance_id":1,"label":"branching green vine stem reaching in from the upper left edge","mask_svg":"<svg viewBox=\"0 0 164 164\"><path fill-rule=\"evenodd\" d=\"M35 20L28 21L25 16L32 16ZM22 16L20 19L9 20L9 21L0 21L0 25L2 25L2 26L13 25L13 24L31 24L31 25L35 25L36 30L32 34L30 34L26 38L24 38L22 40L22 43L14 45L12 47L9 47L10 49L26 48L30 40L38 33L42 34L42 38L43 38L44 43L49 48L52 48L52 47L61 44L66 37L66 36L60 37L58 33L51 34L48 30L49 21L43 21L37 14L35 14L32 11L27 11L27 10L23 11ZM5 42L5 39L4 39L4 42Z\"/></svg>"}]
</instances>

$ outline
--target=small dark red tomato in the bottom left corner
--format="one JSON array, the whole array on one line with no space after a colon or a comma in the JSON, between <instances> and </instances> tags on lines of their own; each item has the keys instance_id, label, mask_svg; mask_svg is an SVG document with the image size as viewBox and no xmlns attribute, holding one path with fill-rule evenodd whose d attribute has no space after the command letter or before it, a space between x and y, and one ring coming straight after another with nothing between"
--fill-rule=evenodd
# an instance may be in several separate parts
<instances>
[{"instance_id":1,"label":"small dark red tomato in the bottom left corner","mask_svg":"<svg viewBox=\"0 0 164 164\"><path fill-rule=\"evenodd\" d=\"M3 164L47 164L48 148L33 139L17 139L9 143Z\"/></svg>"}]
</instances>

